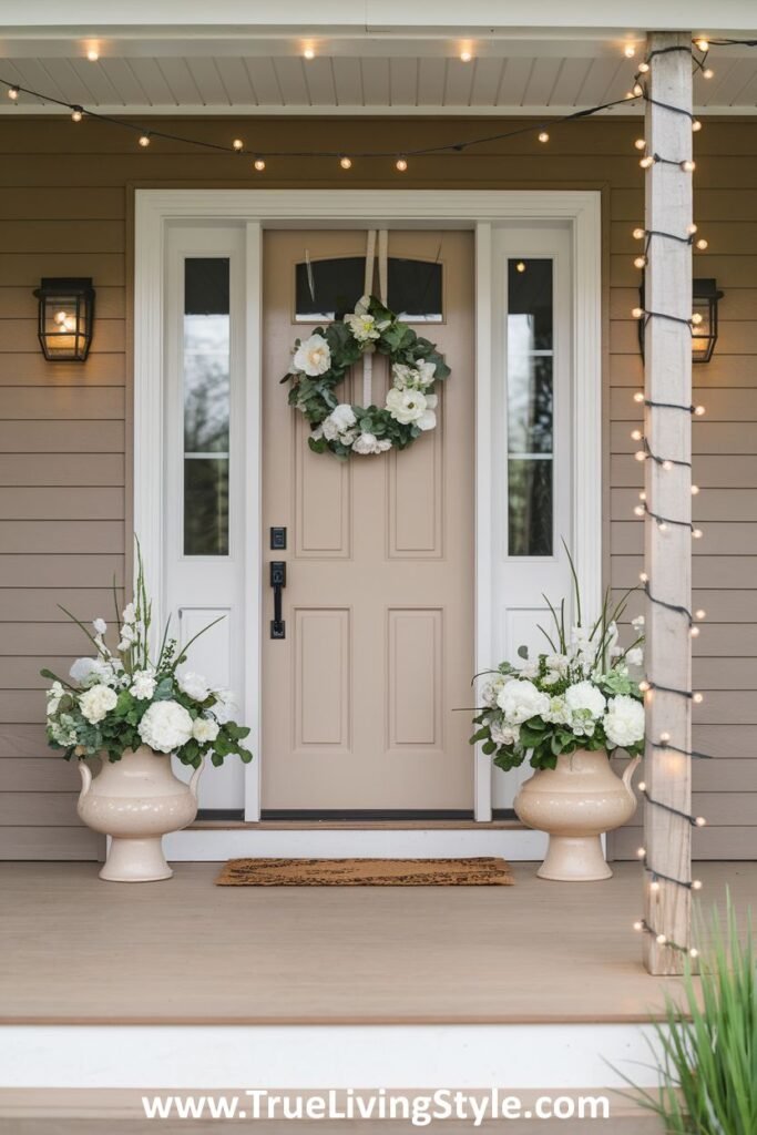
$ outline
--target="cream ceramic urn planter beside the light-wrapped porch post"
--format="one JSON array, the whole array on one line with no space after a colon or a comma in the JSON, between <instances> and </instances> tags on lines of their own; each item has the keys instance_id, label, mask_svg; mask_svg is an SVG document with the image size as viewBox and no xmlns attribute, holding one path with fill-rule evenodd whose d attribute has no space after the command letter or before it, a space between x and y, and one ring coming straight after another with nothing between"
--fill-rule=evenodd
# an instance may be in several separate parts
<instances>
[{"instance_id":1,"label":"cream ceramic urn planter beside the light-wrapped porch post","mask_svg":"<svg viewBox=\"0 0 757 1135\"><path fill-rule=\"evenodd\" d=\"M620 827L636 812L631 788L640 757L629 762L621 780L604 750L577 749L557 757L556 768L542 768L515 797L518 817L549 834L549 850L539 878L589 882L611 878L600 835Z\"/></svg>"}]
</instances>

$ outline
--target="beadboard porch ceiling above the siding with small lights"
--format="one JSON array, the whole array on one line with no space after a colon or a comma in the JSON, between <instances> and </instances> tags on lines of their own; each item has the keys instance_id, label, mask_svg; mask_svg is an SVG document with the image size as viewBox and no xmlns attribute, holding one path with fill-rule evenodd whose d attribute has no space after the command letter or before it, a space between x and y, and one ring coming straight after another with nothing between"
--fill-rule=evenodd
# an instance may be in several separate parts
<instances>
[{"instance_id":1,"label":"beadboard porch ceiling above the siding with small lights","mask_svg":"<svg viewBox=\"0 0 757 1135\"><path fill-rule=\"evenodd\" d=\"M447 35L292 34L0 39L0 77L103 114L561 115L623 99L634 59L625 39L595 33L519 39ZM96 61L87 50L99 52ZM316 57L305 59L312 48ZM460 54L468 50L469 62ZM695 79L700 112L757 112L757 50L713 49L715 77ZM67 114L23 95L0 114ZM639 114L638 107L612 114Z\"/></svg>"}]
</instances>

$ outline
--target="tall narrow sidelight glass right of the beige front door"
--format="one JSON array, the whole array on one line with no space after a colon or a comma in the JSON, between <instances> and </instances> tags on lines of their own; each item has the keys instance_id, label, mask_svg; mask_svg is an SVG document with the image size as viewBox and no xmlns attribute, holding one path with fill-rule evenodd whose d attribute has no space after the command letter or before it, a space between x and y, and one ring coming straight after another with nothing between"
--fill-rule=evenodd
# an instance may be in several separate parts
<instances>
[{"instance_id":1,"label":"tall narrow sidelight glass right of the beige front door","mask_svg":"<svg viewBox=\"0 0 757 1135\"><path fill-rule=\"evenodd\" d=\"M552 556L554 511L552 260L507 263L507 553Z\"/></svg>"}]
</instances>

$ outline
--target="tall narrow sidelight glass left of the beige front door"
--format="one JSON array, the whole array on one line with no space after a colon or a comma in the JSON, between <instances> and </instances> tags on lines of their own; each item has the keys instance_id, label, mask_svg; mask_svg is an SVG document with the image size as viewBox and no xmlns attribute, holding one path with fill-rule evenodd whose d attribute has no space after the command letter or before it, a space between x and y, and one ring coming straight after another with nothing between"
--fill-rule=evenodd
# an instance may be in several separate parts
<instances>
[{"instance_id":1,"label":"tall narrow sidelight glass left of the beige front door","mask_svg":"<svg viewBox=\"0 0 757 1135\"><path fill-rule=\"evenodd\" d=\"M228 257L184 263L184 554L228 555Z\"/></svg>"}]
</instances>

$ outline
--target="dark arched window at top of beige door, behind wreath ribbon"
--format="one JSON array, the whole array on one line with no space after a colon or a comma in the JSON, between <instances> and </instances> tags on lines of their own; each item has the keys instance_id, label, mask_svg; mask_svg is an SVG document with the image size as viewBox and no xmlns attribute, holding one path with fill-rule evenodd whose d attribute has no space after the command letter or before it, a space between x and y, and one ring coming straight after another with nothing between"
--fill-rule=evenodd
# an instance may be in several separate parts
<instances>
[{"instance_id":1,"label":"dark arched window at top of beige door, behind wreath ribbon","mask_svg":"<svg viewBox=\"0 0 757 1135\"><path fill-rule=\"evenodd\" d=\"M342 319L355 310L364 283L364 257L309 260L296 264L295 322ZM417 323L441 322L441 264L438 261L389 257L387 291L388 306L401 319Z\"/></svg>"}]
</instances>

